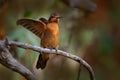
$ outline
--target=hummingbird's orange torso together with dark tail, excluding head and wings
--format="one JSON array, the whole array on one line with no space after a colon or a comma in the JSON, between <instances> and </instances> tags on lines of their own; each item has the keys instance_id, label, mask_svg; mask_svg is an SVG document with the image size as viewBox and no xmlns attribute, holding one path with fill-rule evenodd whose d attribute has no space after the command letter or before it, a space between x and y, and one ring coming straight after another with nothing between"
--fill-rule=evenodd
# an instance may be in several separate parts
<instances>
[{"instance_id":1,"label":"hummingbird's orange torso together with dark tail, excluding head and wings","mask_svg":"<svg viewBox=\"0 0 120 80\"><path fill-rule=\"evenodd\" d=\"M44 48L56 49L59 44L59 27L56 22L48 22L46 30L41 36L41 46ZM40 54L36 67L43 69L49 59L49 54Z\"/></svg>"}]
</instances>

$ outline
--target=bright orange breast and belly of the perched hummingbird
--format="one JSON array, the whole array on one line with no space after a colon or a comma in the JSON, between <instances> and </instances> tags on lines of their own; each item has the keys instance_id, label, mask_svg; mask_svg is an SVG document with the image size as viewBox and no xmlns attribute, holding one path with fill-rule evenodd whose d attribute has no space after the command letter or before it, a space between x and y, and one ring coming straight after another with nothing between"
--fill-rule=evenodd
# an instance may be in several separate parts
<instances>
[{"instance_id":1,"label":"bright orange breast and belly of the perched hummingbird","mask_svg":"<svg viewBox=\"0 0 120 80\"><path fill-rule=\"evenodd\" d=\"M47 29L41 38L42 47L55 48L59 43L59 28L58 24L48 24Z\"/></svg>"}]
</instances>

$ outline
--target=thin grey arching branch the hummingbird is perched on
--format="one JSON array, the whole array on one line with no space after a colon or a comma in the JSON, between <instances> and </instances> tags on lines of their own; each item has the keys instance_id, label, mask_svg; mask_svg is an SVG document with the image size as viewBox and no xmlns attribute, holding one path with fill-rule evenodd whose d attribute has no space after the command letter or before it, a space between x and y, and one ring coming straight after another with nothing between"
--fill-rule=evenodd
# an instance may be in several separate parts
<instances>
[{"instance_id":1,"label":"thin grey arching branch the hummingbird is perched on","mask_svg":"<svg viewBox=\"0 0 120 80\"><path fill-rule=\"evenodd\" d=\"M49 53L49 54L52 53L52 54L62 55L62 56L65 56L67 58L70 58L72 60L75 60L78 63L82 64L89 71L91 80L95 80L94 71L91 68L91 66L86 61L84 61L82 58L80 58L78 56L75 56L73 54L70 54L70 53L67 53L67 52L64 52L61 50L57 50L57 53L56 53L56 50L54 50L54 49L51 50L51 49L32 46L30 44L20 43L20 42L15 42L15 41L9 41L8 44L10 46L18 46L18 47L25 48L25 49L32 49L32 50L37 51L37 52L42 51L44 53Z\"/></svg>"}]
</instances>

